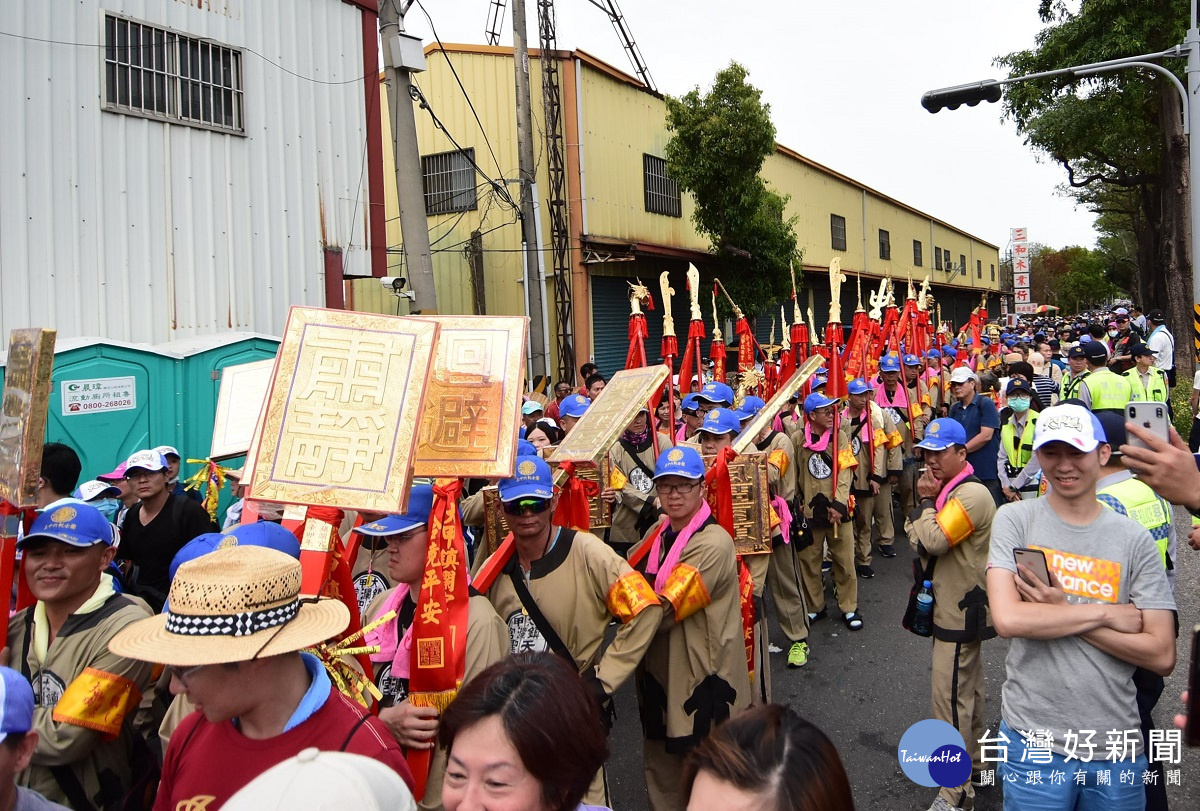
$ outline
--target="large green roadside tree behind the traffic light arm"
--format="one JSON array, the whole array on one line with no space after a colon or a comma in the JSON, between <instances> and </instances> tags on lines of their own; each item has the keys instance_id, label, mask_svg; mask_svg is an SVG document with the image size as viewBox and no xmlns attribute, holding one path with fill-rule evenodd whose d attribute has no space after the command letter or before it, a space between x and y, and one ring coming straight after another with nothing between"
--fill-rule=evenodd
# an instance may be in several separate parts
<instances>
[{"instance_id":1,"label":"large green roadside tree behind the traffic light arm","mask_svg":"<svg viewBox=\"0 0 1200 811\"><path fill-rule=\"evenodd\" d=\"M1009 76L1165 50L1183 41L1188 2L1040 0L1039 13L1046 28L1036 47L997 59ZM1183 76L1182 60L1165 64ZM1008 85L1004 110L1026 143L1062 164L1068 193L1102 215L1106 236L1135 238L1133 253L1120 239L1106 250L1135 260L1134 298L1166 310L1176 335L1186 335L1192 322L1187 138L1174 86L1136 68L1054 77ZM1176 343L1181 370L1190 370L1189 344Z\"/></svg>"}]
</instances>

